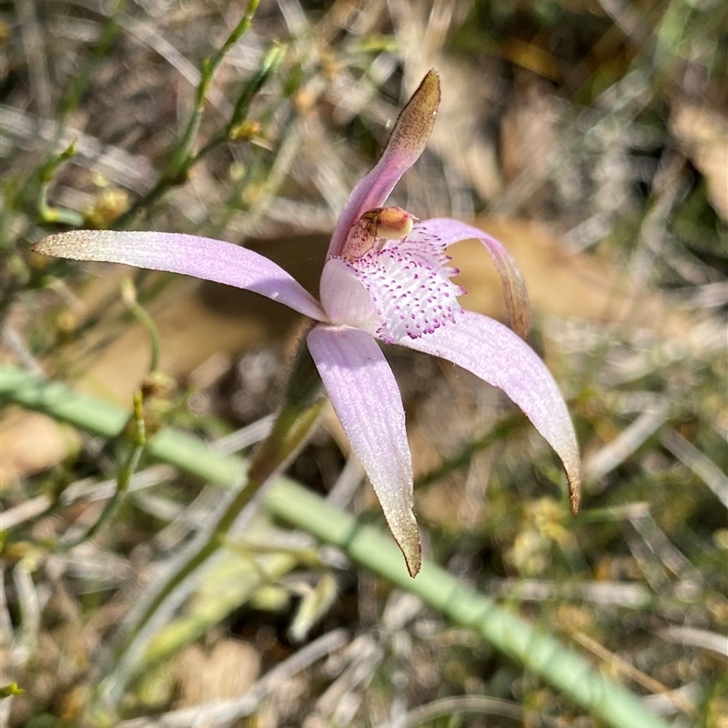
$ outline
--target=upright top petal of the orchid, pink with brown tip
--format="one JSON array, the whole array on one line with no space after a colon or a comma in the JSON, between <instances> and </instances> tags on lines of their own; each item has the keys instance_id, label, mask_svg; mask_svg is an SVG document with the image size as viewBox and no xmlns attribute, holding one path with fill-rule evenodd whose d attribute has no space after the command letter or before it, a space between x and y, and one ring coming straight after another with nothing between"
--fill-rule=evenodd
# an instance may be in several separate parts
<instances>
[{"instance_id":1,"label":"upright top petal of the orchid, pink with brown tip","mask_svg":"<svg viewBox=\"0 0 728 728\"><path fill-rule=\"evenodd\" d=\"M365 212L381 207L402 175L425 150L440 106L440 76L430 71L410 98L392 129L379 162L359 180L344 207L329 245L329 257L338 256L349 230Z\"/></svg>"}]
</instances>

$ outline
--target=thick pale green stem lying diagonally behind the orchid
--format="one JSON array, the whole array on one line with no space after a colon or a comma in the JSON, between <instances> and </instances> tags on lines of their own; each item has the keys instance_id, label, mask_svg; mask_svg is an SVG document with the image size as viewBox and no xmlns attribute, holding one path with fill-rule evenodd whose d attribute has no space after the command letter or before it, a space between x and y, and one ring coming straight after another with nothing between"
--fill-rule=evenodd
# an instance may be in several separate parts
<instances>
[{"instance_id":1,"label":"thick pale green stem lying diagonally behind the orchid","mask_svg":"<svg viewBox=\"0 0 728 728\"><path fill-rule=\"evenodd\" d=\"M0 396L5 402L44 412L106 437L116 435L126 421L126 414L112 405L10 367L0 367ZM243 460L220 455L175 430L157 434L150 440L147 452L227 488L239 482L245 468ZM667 728L633 693L595 670L580 654L447 571L425 561L420 575L411 579L389 536L333 508L294 481L279 477L268 490L265 502L279 518L339 547L359 565L440 610L451 622L477 632L612 728Z\"/></svg>"}]
</instances>

